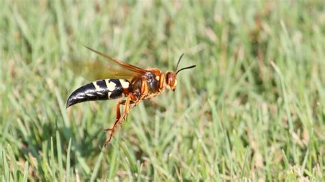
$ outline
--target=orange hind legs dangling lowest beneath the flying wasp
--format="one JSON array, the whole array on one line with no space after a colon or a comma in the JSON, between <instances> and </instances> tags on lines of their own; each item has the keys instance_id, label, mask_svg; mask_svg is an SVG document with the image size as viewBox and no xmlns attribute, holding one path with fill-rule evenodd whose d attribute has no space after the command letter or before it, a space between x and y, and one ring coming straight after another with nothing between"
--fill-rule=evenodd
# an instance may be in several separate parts
<instances>
[{"instance_id":1,"label":"orange hind legs dangling lowest beneath the flying wasp","mask_svg":"<svg viewBox=\"0 0 325 182\"><path fill-rule=\"evenodd\" d=\"M108 139L104 143L104 147L106 147L107 144L110 143L110 140L112 140L112 137L113 137L117 127L119 127L119 125L121 125L122 120L125 119L126 116L128 116L130 108L131 108L130 104L133 103L133 101L131 99L132 99L132 94L129 94L128 97L126 98L126 100L119 101L119 103L117 103L117 118L114 122L114 125L111 128L105 129L106 132L110 131L110 134L108 136ZM122 115L121 115L121 111L120 111L120 105L125 105Z\"/></svg>"}]
</instances>

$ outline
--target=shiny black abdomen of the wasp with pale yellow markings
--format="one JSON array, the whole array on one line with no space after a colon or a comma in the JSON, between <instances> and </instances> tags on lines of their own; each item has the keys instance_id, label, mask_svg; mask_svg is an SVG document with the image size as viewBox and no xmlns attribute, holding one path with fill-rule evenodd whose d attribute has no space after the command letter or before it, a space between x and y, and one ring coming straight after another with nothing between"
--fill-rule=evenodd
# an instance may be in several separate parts
<instances>
[{"instance_id":1,"label":"shiny black abdomen of the wasp with pale yellow markings","mask_svg":"<svg viewBox=\"0 0 325 182\"><path fill-rule=\"evenodd\" d=\"M101 79L88 83L69 96L67 108L86 101L101 101L118 99L123 96L124 90L132 91L131 84L126 79Z\"/></svg>"}]
</instances>

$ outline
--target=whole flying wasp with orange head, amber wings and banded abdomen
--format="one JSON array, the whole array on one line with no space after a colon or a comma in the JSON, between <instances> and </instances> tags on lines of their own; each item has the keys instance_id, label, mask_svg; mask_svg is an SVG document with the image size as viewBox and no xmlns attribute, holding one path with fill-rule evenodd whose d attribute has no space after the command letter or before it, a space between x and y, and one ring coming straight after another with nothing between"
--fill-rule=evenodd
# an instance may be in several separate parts
<instances>
[{"instance_id":1,"label":"whole flying wasp with orange head, amber wings and banded abdomen","mask_svg":"<svg viewBox=\"0 0 325 182\"><path fill-rule=\"evenodd\" d=\"M131 64L121 62L112 58L104 53L95 51L89 47L89 50L105 57L110 64L107 71L110 72L110 76L107 79L101 79L88 83L77 90L73 91L67 100L67 108L77 103L85 101L99 101L119 99L126 97L125 100L119 101L116 107L116 120L111 128L105 129L106 132L110 132L108 139L104 143L106 146L112 136L114 135L117 127L121 125L123 119L128 116L130 109L139 103L143 99L152 99L165 89L165 87L175 91L177 86L176 76L181 70L194 68L188 66L177 70L180 60L182 60L182 54L176 64L176 71L163 73L157 68L143 69ZM123 113L121 114L120 106L124 105Z\"/></svg>"}]
</instances>

